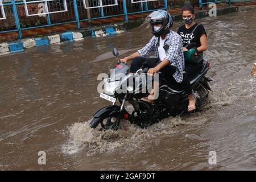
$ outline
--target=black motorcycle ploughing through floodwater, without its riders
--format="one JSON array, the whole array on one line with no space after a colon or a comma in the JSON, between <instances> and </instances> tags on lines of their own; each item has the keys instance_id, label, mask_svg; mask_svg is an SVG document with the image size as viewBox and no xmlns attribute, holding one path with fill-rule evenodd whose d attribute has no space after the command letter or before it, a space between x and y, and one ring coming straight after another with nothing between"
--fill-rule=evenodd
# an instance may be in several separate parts
<instances>
[{"instance_id":1,"label":"black motorcycle ploughing through floodwater, without its riders","mask_svg":"<svg viewBox=\"0 0 256 182\"><path fill-rule=\"evenodd\" d=\"M117 58L119 56L116 48L113 49L113 55ZM100 94L101 98L111 101L113 104L98 110L89 123L90 127L96 129L100 125L102 130L118 130L119 124L123 120L145 128L164 118L179 117L181 114L187 113L188 97L184 88L170 84L165 79L159 86L159 96L153 104L141 100L150 94L148 88L151 88L152 81L154 81L154 76L146 74L148 68L145 65L147 64L143 65L143 69L139 69L135 74L130 74L129 67L118 61L112 69L112 72L115 73L114 76L110 72L109 77L104 80L104 92ZM196 111L201 110L209 103L209 90L211 89L208 82L212 81L212 78L205 76L209 67L210 63L206 61L203 68L189 79L193 96L196 98ZM129 80L133 80L133 83L129 84ZM127 92L120 92L120 90ZM118 101L119 104L117 104ZM125 109L126 102L133 106L133 111L130 113Z\"/></svg>"}]
</instances>

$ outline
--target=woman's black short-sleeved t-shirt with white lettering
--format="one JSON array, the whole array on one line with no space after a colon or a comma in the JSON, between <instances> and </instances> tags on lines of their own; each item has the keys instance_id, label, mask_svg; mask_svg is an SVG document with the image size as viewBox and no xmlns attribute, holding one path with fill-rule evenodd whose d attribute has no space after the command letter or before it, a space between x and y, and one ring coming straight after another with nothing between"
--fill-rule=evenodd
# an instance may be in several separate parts
<instances>
[{"instance_id":1,"label":"woman's black short-sleeved t-shirt with white lettering","mask_svg":"<svg viewBox=\"0 0 256 182\"><path fill-rule=\"evenodd\" d=\"M196 43L196 47L200 47L200 38L203 34L207 35L202 24L195 23L192 27L186 28L185 25L179 27L177 33L181 36L181 42L183 47L187 46L190 43ZM196 30L192 33L194 28L197 26ZM191 34L192 33L192 34Z\"/></svg>"}]
</instances>

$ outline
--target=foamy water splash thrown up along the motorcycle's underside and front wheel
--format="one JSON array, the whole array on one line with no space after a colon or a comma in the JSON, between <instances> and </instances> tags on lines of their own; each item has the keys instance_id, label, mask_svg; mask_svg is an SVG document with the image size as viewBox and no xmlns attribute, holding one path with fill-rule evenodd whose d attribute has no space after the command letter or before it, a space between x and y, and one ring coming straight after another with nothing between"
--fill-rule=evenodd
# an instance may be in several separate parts
<instances>
[{"instance_id":1,"label":"foamy water splash thrown up along the motorcycle's underside and front wheel","mask_svg":"<svg viewBox=\"0 0 256 182\"><path fill-rule=\"evenodd\" d=\"M139 147L146 147L143 143L150 146L152 142L159 142L161 137L175 133L174 127L185 124L181 118L167 118L147 129L142 129L121 121L118 131L100 131L90 128L89 122L77 122L68 128L69 141L63 147L64 154L72 155L82 150L86 150L88 156L121 149L133 151Z\"/></svg>"}]
</instances>

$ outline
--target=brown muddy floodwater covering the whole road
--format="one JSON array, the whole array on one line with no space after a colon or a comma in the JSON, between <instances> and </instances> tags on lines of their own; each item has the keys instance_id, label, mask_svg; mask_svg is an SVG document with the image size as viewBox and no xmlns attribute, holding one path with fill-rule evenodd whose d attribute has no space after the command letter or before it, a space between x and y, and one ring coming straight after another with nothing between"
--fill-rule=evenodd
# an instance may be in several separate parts
<instances>
[{"instance_id":1,"label":"brown muddy floodwater covering the whole road","mask_svg":"<svg viewBox=\"0 0 256 182\"><path fill-rule=\"evenodd\" d=\"M109 105L97 75L151 38L147 24L117 36L37 47L0 57L0 169L256 169L256 12L198 19L208 33L211 103L190 117L148 129L88 127ZM175 22L173 30L182 23ZM46 152L46 165L38 152ZM217 164L208 163L216 151Z\"/></svg>"}]
</instances>

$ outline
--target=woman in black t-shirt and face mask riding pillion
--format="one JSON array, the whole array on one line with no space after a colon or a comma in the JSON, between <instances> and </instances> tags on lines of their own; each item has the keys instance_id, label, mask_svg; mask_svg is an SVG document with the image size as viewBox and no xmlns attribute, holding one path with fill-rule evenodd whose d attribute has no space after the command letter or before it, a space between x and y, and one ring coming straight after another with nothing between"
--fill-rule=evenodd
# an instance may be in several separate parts
<instances>
[{"instance_id":1,"label":"woman in black t-shirt and face mask riding pillion","mask_svg":"<svg viewBox=\"0 0 256 182\"><path fill-rule=\"evenodd\" d=\"M183 20L185 24L179 27L177 33L181 36L183 51L185 55L185 69L183 79L197 73L203 67L203 51L207 50L207 34L204 26L195 22L194 8L190 3L183 6ZM194 48L190 49L189 48ZM188 83L190 85L190 82ZM187 87L186 93L189 97L188 111L196 109L196 101L193 98L191 86Z\"/></svg>"}]
</instances>

